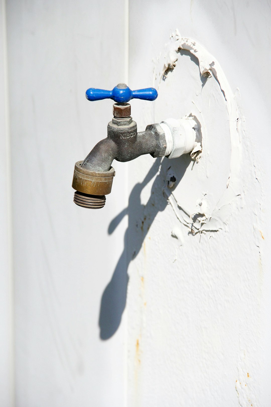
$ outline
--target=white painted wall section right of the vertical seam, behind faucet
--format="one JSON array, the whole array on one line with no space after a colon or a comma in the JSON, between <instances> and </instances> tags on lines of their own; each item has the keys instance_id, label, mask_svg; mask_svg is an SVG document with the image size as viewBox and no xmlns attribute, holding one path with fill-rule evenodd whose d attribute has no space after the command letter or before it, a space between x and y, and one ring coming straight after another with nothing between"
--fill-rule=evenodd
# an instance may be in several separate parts
<instances>
[{"instance_id":1,"label":"white painted wall section right of the vertical seam, behind faucet","mask_svg":"<svg viewBox=\"0 0 271 407\"><path fill-rule=\"evenodd\" d=\"M187 157L129 164L129 406L271 403L269 18L264 1L130 4L129 84L153 83L159 93L151 107L131 103L139 129L190 113L204 123L194 166ZM199 51L179 52L163 80L176 28ZM197 43L219 61L227 102L214 74L201 81ZM236 88L240 100L231 98ZM189 221L182 209L197 212L202 198L211 217L202 230L217 232L181 223Z\"/></svg>"}]
</instances>

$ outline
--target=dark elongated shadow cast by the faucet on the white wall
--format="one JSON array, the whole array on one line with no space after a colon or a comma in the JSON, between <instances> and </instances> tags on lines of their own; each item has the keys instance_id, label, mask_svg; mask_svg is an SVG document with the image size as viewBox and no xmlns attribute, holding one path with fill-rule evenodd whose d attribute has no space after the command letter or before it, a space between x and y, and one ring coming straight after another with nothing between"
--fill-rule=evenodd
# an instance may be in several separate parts
<instances>
[{"instance_id":1,"label":"dark elongated shadow cast by the faucet on the white wall","mask_svg":"<svg viewBox=\"0 0 271 407\"><path fill-rule=\"evenodd\" d=\"M121 323L121 316L126 306L129 264L139 253L157 213L165 210L167 206L167 200L162 193L167 170L171 167L171 171L176 177L176 187L190 163L191 157L188 154L182 155L178 160L169 161L168 158L157 158L143 182L136 184L132 189L128 207L122 210L109 224L108 234L112 234L124 216L128 214L128 228L124 235L124 250L101 299L99 326L100 338L103 340L111 338ZM141 191L155 175L150 198L147 204L143 205L140 200Z\"/></svg>"}]
</instances>

